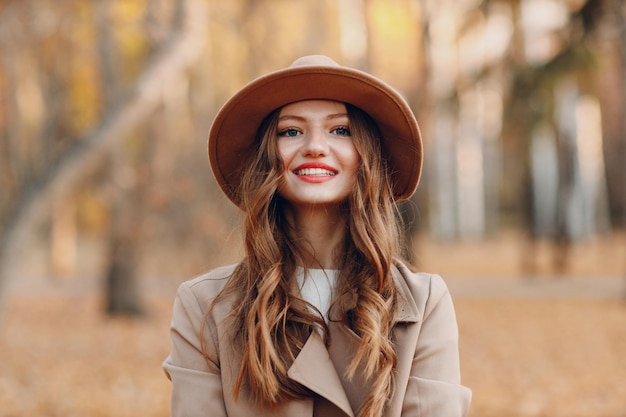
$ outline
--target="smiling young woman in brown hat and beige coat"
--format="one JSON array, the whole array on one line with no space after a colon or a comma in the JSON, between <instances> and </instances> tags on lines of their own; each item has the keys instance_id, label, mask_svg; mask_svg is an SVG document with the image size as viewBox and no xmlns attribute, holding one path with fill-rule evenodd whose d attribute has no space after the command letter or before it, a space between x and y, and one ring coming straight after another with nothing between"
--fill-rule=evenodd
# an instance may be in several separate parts
<instances>
[{"instance_id":1,"label":"smiling young woman in brown hat and beige coat","mask_svg":"<svg viewBox=\"0 0 626 417\"><path fill-rule=\"evenodd\" d=\"M246 256L178 290L172 416L467 413L448 290L401 258L422 143L395 90L300 58L222 107L209 159Z\"/></svg>"}]
</instances>

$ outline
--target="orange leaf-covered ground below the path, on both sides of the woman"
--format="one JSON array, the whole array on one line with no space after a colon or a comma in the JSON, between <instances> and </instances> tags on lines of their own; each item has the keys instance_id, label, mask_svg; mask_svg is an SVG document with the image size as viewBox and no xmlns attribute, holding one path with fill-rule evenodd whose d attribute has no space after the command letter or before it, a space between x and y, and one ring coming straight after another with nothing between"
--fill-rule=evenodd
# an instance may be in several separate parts
<instances>
[{"instance_id":1,"label":"orange leaf-covered ground below the path, on both sides of the woman","mask_svg":"<svg viewBox=\"0 0 626 417\"><path fill-rule=\"evenodd\" d=\"M0 416L169 415L174 285L143 318L104 316L94 291L38 288L14 290L0 315ZM459 291L455 304L470 417L626 417L624 298Z\"/></svg>"}]
</instances>

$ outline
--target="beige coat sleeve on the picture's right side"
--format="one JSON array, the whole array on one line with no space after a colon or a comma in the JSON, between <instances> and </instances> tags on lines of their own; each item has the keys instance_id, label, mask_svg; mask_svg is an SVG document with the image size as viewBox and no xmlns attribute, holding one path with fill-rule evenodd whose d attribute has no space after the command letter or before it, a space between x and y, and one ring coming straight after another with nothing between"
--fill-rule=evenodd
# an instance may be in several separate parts
<instances>
[{"instance_id":1,"label":"beige coat sleeve on the picture's right side","mask_svg":"<svg viewBox=\"0 0 626 417\"><path fill-rule=\"evenodd\" d=\"M402 416L462 417L471 397L471 390L461 385L452 298L443 279L431 275Z\"/></svg>"}]
</instances>

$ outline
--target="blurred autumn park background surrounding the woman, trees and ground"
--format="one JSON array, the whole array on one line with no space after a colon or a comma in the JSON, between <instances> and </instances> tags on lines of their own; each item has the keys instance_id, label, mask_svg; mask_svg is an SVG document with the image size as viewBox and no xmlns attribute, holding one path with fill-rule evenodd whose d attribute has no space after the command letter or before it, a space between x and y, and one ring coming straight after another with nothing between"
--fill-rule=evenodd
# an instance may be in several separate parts
<instances>
[{"instance_id":1,"label":"blurred autumn park background surrounding the woman, trees and ground","mask_svg":"<svg viewBox=\"0 0 626 417\"><path fill-rule=\"evenodd\" d=\"M213 116L322 53L418 116L470 417L625 417L624 3L0 0L0 416L168 415L176 287L241 255Z\"/></svg>"}]
</instances>

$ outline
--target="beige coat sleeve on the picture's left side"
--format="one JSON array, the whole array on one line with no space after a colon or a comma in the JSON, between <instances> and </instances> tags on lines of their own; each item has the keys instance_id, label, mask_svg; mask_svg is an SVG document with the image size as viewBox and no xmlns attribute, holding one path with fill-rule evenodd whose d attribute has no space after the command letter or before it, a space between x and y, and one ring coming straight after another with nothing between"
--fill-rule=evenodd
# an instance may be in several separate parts
<instances>
[{"instance_id":1,"label":"beige coat sleeve on the picture's left side","mask_svg":"<svg viewBox=\"0 0 626 417\"><path fill-rule=\"evenodd\" d=\"M183 283L174 301L171 351L163 362L163 369L172 381L172 417L226 417L216 329L210 320L204 320L204 314L191 285ZM201 336L205 340L206 358L202 354Z\"/></svg>"}]
</instances>

